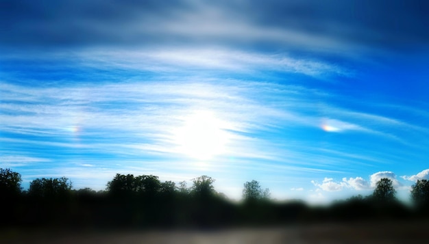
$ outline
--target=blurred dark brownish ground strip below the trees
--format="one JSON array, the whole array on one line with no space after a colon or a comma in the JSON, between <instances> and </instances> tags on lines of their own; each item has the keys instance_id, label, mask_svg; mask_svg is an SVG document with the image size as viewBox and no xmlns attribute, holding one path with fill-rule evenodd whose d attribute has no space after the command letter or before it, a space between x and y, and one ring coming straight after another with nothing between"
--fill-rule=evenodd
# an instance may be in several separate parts
<instances>
[{"instance_id":1,"label":"blurred dark brownish ground strip below the trees","mask_svg":"<svg viewBox=\"0 0 429 244\"><path fill-rule=\"evenodd\" d=\"M317 223L275 228L171 231L1 230L0 243L145 243L145 244L277 244L277 243L426 243L428 222Z\"/></svg>"}]
</instances>

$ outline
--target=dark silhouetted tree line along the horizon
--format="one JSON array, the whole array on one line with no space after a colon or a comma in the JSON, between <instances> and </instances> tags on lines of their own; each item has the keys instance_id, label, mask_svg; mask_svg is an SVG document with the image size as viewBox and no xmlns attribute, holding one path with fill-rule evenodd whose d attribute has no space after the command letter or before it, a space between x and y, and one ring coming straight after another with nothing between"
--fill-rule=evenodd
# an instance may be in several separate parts
<instances>
[{"instance_id":1,"label":"dark silhouetted tree line along the horizon","mask_svg":"<svg viewBox=\"0 0 429 244\"><path fill-rule=\"evenodd\" d=\"M256 180L243 185L243 201L232 202L215 190L215 179L199 176L188 187L158 176L116 174L106 190L73 189L62 178L36 178L27 191L21 174L0 168L3 226L75 226L115 228L210 228L429 217L429 182L411 187L412 206L396 198L393 182L382 178L371 195L308 206L302 200L273 201Z\"/></svg>"}]
</instances>

